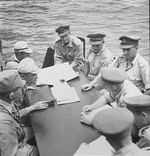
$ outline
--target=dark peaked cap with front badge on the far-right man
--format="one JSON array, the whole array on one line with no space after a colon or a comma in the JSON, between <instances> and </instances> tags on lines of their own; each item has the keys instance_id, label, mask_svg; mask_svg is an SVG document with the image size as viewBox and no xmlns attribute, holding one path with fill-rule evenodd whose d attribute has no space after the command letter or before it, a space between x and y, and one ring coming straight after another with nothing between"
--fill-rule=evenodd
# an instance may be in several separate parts
<instances>
[{"instance_id":1,"label":"dark peaked cap with front badge on the far-right man","mask_svg":"<svg viewBox=\"0 0 150 156\"><path fill-rule=\"evenodd\" d=\"M138 44L138 41L141 39L139 36L121 36L119 40L122 40L119 48L128 49Z\"/></svg>"}]
</instances>

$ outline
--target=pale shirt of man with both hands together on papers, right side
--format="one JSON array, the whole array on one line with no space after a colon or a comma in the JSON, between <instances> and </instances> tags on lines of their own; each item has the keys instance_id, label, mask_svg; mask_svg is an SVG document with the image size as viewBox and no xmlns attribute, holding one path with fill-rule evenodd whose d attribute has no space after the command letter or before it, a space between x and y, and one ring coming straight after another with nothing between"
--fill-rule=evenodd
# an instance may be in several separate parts
<instances>
[{"instance_id":1,"label":"pale shirt of man with both hands together on papers, right side","mask_svg":"<svg viewBox=\"0 0 150 156\"><path fill-rule=\"evenodd\" d=\"M129 80L124 81L124 86L117 95L113 95L113 93L111 92L104 93L104 97L106 98L108 103L116 102L118 107L126 107L123 102L124 97L137 95L142 95L141 91Z\"/></svg>"}]
</instances>

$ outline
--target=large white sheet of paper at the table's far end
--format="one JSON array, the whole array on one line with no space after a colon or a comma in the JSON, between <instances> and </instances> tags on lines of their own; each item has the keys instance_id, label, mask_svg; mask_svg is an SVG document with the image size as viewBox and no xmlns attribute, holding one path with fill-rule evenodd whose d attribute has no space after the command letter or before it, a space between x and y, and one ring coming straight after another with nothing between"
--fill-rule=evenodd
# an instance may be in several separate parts
<instances>
[{"instance_id":1,"label":"large white sheet of paper at the table's far end","mask_svg":"<svg viewBox=\"0 0 150 156\"><path fill-rule=\"evenodd\" d=\"M76 73L69 65L69 63L66 62L41 69L40 73L38 74L37 84L47 84L54 86L61 79L69 81L78 76L78 73Z\"/></svg>"}]
</instances>

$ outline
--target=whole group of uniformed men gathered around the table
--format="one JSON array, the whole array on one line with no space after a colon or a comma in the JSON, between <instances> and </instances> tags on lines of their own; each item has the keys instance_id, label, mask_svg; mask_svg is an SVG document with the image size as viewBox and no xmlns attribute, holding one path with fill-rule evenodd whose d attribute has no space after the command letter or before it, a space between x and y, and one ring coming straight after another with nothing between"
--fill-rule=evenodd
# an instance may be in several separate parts
<instances>
[{"instance_id":1,"label":"whole group of uniformed men gathered around the table","mask_svg":"<svg viewBox=\"0 0 150 156\"><path fill-rule=\"evenodd\" d=\"M83 84L81 87L83 91L88 91L93 86L105 90L97 101L84 106L81 122L93 125L106 137L115 150L113 155L150 155L148 151L150 71L149 63L138 53L138 42L141 38L120 37L123 54L114 59L113 54L104 45L106 35L89 34L87 37L91 48L84 58L83 44L78 37L70 34L69 26L60 26L56 32L58 38L54 46L55 64L69 62L73 68L81 70L90 80L89 84ZM29 89L37 87L39 68L30 58L32 52L26 42L18 41L14 45L14 55L6 61L4 71L0 72L0 154L2 156L15 156L20 153L22 156L38 155L35 144L24 142L20 117L28 115L33 110L45 109L48 105L45 102L37 102L20 110L17 106L21 105L24 94L27 95ZM22 87L23 91L20 90ZM94 118L89 117L89 112L107 104L111 106L109 109L99 111ZM18 125L20 128L16 129ZM137 137L137 132L140 138L134 141L135 145L132 140Z\"/></svg>"}]
</instances>

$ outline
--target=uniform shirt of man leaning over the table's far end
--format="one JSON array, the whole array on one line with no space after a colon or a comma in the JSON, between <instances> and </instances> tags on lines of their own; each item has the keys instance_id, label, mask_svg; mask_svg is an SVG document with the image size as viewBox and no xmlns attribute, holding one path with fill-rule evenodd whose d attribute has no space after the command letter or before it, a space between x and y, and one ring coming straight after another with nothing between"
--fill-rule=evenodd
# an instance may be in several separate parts
<instances>
[{"instance_id":1,"label":"uniform shirt of man leaning over the table's far end","mask_svg":"<svg viewBox=\"0 0 150 156\"><path fill-rule=\"evenodd\" d=\"M83 67L83 46L80 39L70 35L70 42L65 45L60 39L55 42L55 64L74 62L80 69Z\"/></svg>"}]
</instances>

